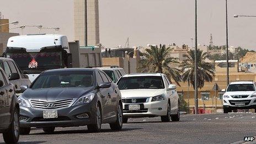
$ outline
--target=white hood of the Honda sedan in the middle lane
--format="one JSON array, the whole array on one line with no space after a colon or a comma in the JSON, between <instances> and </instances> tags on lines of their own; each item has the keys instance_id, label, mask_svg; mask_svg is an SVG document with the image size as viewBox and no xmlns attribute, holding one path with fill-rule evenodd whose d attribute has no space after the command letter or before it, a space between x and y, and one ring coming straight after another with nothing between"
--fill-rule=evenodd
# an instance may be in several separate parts
<instances>
[{"instance_id":1,"label":"white hood of the Honda sedan in the middle lane","mask_svg":"<svg viewBox=\"0 0 256 144\"><path fill-rule=\"evenodd\" d=\"M120 90L122 98L154 97L164 93L164 89L124 89Z\"/></svg>"}]
</instances>

